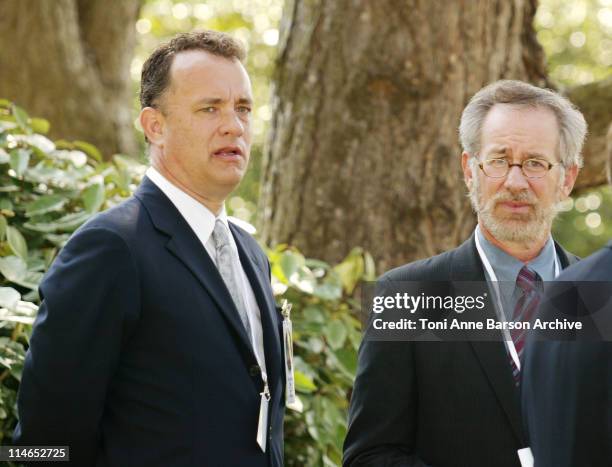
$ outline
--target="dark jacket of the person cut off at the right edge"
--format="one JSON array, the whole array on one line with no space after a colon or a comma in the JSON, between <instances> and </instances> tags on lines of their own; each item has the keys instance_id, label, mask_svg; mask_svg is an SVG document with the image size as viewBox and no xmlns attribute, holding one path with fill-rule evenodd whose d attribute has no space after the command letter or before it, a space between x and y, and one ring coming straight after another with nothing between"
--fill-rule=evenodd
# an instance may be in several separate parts
<instances>
[{"instance_id":1,"label":"dark jacket of the person cut off at the right edge","mask_svg":"<svg viewBox=\"0 0 612 467\"><path fill-rule=\"evenodd\" d=\"M567 340L532 335L525 347L523 413L535 465L610 467L612 242L563 271L538 317L580 319L584 328Z\"/></svg>"}]
</instances>

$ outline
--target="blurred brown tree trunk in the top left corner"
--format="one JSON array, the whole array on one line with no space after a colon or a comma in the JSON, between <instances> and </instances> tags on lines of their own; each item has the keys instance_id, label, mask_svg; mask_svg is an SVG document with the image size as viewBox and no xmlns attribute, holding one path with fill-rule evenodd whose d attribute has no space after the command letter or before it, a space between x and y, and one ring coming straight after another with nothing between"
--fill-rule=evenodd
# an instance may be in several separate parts
<instances>
[{"instance_id":1,"label":"blurred brown tree trunk in the top left corner","mask_svg":"<svg viewBox=\"0 0 612 467\"><path fill-rule=\"evenodd\" d=\"M0 0L0 97L51 136L136 154L129 68L141 0Z\"/></svg>"}]
</instances>

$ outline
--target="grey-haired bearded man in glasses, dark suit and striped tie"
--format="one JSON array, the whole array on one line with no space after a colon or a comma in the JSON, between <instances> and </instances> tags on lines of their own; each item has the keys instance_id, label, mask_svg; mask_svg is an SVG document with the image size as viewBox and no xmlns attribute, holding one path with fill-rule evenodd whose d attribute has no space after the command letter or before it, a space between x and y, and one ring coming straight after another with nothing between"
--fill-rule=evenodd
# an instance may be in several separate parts
<instances>
[{"instance_id":1,"label":"grey-haired bearded man in glasses, dark suit and striped tie","mask_svg":"<svg viewBox=\"0 0 612 467\"><path fill-rule=\"evenodd\" d=\"M481 281L486 313L521 319L525 292L576 258L550 234L569 195L586 123L566 99L517 81L480 90L461 117L462 166L478 226L458 248L387 272L402 281ZM515 286L516 284L516 286ZM451 285L452 287L452 285ZM516 290L514 290L516 289ZM493 300L496 304L498 301ZM345 466L518 467L528 457L519 405L523 341L391 342L364 337L344 445Z\"/></svg>"}]
</instances>

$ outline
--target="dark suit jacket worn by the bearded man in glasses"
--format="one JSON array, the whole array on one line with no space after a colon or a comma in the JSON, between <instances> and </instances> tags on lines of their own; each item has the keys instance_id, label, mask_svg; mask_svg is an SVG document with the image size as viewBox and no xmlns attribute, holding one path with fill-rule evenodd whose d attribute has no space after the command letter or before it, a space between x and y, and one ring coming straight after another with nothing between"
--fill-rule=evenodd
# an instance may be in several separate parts
<instances>
[{"instance_id":1,"label":"dark suit jacket worn by the bearded man in glasses","mask_svg":"<svg viewBox=\"0 0 612 467\"><path fill-rule=\"evenodd\" d=\"M574 260L557 253L563 266ZM379 283L485 280L472 235ZM525 446L503 342L362 341L345 466L518 467Z\"/></svg>"}]
</instances>

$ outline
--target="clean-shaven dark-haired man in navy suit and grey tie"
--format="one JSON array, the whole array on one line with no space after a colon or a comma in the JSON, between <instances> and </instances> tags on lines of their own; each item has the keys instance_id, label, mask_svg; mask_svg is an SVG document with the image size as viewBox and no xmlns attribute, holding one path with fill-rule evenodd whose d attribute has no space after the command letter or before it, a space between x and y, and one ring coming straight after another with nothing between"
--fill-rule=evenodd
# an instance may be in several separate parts
<instances>
[{"instance_id":1,"label":"clean-shaven dark-haired man in navy suit and grey tie","mask_svg":"<svg viewBox=\"0 0 612 467\"><path fill-rule=\"evenodd\" d=\"M265 254L224 200L251 146L244 51L181 34L143 66L152 167L69 240L40 287L22 445L76 466L282 466L280 318Z\"/></svg>"}]
</instances>

